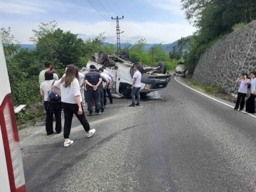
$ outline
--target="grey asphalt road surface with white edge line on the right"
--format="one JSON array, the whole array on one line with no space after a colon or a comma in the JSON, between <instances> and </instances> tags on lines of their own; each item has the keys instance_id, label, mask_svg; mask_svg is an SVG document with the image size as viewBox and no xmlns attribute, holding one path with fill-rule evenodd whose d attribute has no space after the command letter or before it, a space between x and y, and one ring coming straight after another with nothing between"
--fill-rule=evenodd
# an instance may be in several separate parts
<instances>
[{"instance_id":1,"label":"grey asphalt road surface with white edge line on the right","mask_svg":"<svg viewBox=\"0 0 256 192\"><path fill-rule=\"evenodd\" d=\"M159 94L87 117L90 139L74 117L68 148L21 130L27 191L256 191L256 119L174 79Z\"/></svg>"}]
</instances>

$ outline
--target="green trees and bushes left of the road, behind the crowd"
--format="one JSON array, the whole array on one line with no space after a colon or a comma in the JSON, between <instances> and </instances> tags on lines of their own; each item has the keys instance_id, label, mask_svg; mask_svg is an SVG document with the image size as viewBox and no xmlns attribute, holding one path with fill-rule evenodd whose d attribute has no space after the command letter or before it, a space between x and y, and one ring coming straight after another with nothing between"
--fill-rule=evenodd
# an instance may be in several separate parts
<instances>
[{"instance_id":1,"label":"green trees and bushes left of the road, behind the crowd","mask_svg":"<svg viewBox=\"0 0 256 192\"><path fill-rule=\"evenodd\" d=\"M47 60L53 63L53 68L61 77L67 65L73 63L78 68L82 68L91 56L100 50L105 50L108 54L117 53L114 44L103 46L106 40L104 32L95 38L82 40L77 34L63 31L58 28L55 21L51 21L40 23L33 33L34 36L30 41L36 45L36 50L28 50L21 48L20 42L12 35L11 28L0 29L14 105L27 105L26 110L17 115L19 126L33 124L44 114L38 75L44 69ZM150 66L164 62L169 72L174 71L176 64L182 60L167 54L161 44L152 47L149 51L144 50L144 46L146 39L141 39L134 46L127 46L123 50L129 51L132 62Z\"/></svg>"}]
</instances>

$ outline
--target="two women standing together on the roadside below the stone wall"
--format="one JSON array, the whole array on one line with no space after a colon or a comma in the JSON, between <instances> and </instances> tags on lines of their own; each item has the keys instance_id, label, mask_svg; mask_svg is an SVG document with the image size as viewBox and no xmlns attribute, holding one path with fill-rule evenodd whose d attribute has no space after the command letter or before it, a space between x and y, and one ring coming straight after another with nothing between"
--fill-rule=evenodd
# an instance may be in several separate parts
<instances>
[{"instance_id":1,"label":"two women standing together on the roadside below the stone wall","mask_svg":"<svg viewBox=\"0 0 256 192\"><path fill-rule=\"evenodd\" d=\"M250 73L250 78L248 77L247 73L242 73L236 82L240 83L240 87L238 90L238 99L235 103L234 110L239 109L242 111L245 107L246 113L255 114L256 71L252 71ZM250 90L250 96L245 102L248 89Z\"/></svg>"}]
</instances>

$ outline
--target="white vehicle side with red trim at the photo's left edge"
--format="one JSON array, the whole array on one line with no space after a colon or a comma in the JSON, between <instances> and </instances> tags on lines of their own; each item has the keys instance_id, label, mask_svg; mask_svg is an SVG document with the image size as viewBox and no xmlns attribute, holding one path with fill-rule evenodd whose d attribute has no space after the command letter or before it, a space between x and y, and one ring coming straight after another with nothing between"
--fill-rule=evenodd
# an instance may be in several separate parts
<instances>
[{"instance_id":1,"label":"white vehicle side with red trim at the photo's left edge","mask_svg":"<svg viewBox=\"0 0 256 192\"><path fill-rule=\"evenodd\" d=\"M21 146L4 49L1 43L0 81L0 192L24 192L26 186Z\"/></svg>"}]
</instances>

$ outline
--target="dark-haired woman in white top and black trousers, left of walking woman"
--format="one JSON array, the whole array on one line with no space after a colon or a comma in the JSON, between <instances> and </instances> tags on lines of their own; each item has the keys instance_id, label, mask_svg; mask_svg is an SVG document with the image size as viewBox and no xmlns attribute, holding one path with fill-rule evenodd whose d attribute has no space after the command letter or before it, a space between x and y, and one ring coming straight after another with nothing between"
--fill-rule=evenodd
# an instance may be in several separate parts
<instances>
[{"instance_id":1,"label":"dark-haired woman in white top and black trousers, left of walking woman","mask_svg":"<svg viewBox=\"0 0 256 192\"><path fill-rule=\"evenodd\" d=\"M44 106L46 109L46 133L47 135L53 134L53 114L55 115L55 131L57 134L61 132L61 104L58 105L58 108L54 111L48 108L48 96L52 90L53 86L53 72L47 70L45 73L46 80L43 81L40 85L40 92L43 96Z\"/></svg>"}]
</instances>

